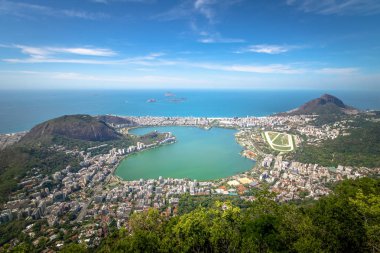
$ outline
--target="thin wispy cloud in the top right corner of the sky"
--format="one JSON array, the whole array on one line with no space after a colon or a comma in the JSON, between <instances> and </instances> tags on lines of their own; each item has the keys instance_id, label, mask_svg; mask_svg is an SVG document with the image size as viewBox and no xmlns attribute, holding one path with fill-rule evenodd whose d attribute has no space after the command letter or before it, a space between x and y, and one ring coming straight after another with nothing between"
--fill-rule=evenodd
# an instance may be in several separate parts
<instances>
[{"instance_id":1,"label":"thin wispy cloud in the top right corner of the sky","mask_svg":"<svg viewBox=\"0 0 380 253\"><path fill-rule=\"evenodd\" d=\"M379 0L287 0L304 12L322 15L374 15L380 13Z\"/></svg>"}]
</instances>

